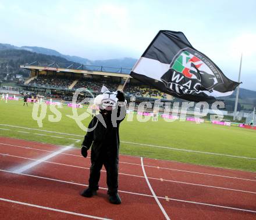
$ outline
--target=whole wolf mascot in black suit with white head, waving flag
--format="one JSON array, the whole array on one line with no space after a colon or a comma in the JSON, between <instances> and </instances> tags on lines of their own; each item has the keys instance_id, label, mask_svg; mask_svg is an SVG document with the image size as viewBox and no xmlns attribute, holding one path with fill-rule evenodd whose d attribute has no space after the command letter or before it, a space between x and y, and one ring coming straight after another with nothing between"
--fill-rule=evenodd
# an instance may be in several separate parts
<instances>
[{"instance_id":1,"label":"whole wolf mascot in black suit with white head, waving flag","mask_svg":"<svg viewBox=\"0 0 256 220\"><path fill-rule=\"evenodd\" d=\"M81 146L81 154L87 157L91 145L91 168L89 186L81 196L92 197L99 189L99 176L104 165L109 201L120 204L118 194L119 124L125 118L126 100L123 92L110 92L102 86L102 94L94 99L99 114L91 120Z\"/></svg>"}]
</instances>

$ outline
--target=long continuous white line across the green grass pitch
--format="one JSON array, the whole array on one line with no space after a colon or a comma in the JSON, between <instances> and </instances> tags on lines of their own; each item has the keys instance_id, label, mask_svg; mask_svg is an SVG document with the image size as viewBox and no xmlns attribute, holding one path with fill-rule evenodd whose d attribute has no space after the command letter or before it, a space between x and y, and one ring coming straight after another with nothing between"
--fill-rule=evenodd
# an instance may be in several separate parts
<instances>
[{"instance_id":1,"label":"long continuous white line across the green grass pitch","mask_svg":"<svg viewBox=\"0 0 256 220\"><path fill-rule=\"evenodd\" d=\"M2 126L8 126L8 127L13 127L13 128L29 129L29 130L34 130L34 131L49 132L49 133L54 133L54 134L61 134L61 135L70 135L70 136L79 136L79 137L83 137L83 135L69 134L69 133L56 132L56 131L47 131L47 130L42 130L42 129L20 127L20 126L15 126L15 125L7 125L7 124L0 124L0 125L2 125ZM201 151L197 151L197 150L187 150L187 149L179 149L179 148L174 148L174 147L165 147L165 146L157 146L157 145L148 145L148 144L144 144L144 143L134 143L134 142L126 142L126 141L120 141L120 142L121 142L121 143L129 143L130 145L157 147L157 148L162 148L162 149L178 150L178 151L190 152L190 153L200 153L200 154L209 154L209 155L222 156L222 157L234 157L234 158L243 158L243 159L248 159L248 160L256 160L256 158L253 158L253 157L242 157L242 156L234 156L234 155L230 155L230 154L220 154L220 153L211 153L211 152L201 152Z\"/></svg>"}]
</instances>

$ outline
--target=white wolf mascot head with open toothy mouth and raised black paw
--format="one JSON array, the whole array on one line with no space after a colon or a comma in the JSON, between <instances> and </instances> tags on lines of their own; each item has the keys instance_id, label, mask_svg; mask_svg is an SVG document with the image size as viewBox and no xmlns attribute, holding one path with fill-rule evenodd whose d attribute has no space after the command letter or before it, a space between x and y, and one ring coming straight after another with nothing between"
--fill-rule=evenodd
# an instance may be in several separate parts
<instances>
[{"instance_id":1,"label":"white wolf mascot head with open toothy mouth and raised black paw","mask_svg":"<svg viewBox=\"0 0 256 220\"><path fill-rule=\"evenodd\" d=\"M117 106L126 104L125 96L122 92L110 92L106 86L101 88L102 94L97 95L94 99L94 104L102 111L112 111Z\"/></svg>"}]
</instances>

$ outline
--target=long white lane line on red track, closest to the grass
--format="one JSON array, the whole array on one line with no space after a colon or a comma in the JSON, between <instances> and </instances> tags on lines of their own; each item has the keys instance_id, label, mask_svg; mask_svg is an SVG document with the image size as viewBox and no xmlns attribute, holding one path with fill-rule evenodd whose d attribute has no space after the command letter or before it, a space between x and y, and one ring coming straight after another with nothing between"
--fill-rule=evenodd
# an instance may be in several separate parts
<instances>
[{"instance_id":1,"label":"long white lane line on red track, closest to the grass","mask_svg":"<svg viewBox=\"0 0 256 220\"><path fill-rule=\"evenodd\" d=\"M0 145L6 145L6 146L12 146L12 147L21 147L21 148L31 149L31 150L40 150L40 151L43 151L43 152L53 152L53 151L51 151L51 150L42 150L42 149L36 149L36 148L33 148L33 147L24 147L24 146L18 146L18 145L9 145L9 144L7 144L7 143L0 143ZM77 149L77 148L76 148L76 149ZM67 153L61 153L61 154L63 154L63 155L68 155L68 156L74 156L74 157L83 157L83 156L79 156L79 155L75 155L75 154L67 154ZM87 158L90 158L90 157L87 157ZM127 162L122 162L122 161L119 161L119 163L141 166L141 164L127 163ZM184 169L173 169L173 168L166 168L166 167L156 167L156 166L151 166L151 165L144 165L144 167L152 167L152 168L158 168L158 169L168 169L168 170L178 171L178 172L189 172L189 173L191 173L191 174L200 174L200 175L209 175L209 176L219 176L219 177L222 177L222 178L240 179L240 180L243 180L243 181L254 181L254 182L256 182L255 179L246 179L246 178L239 178L239 177L236 177L236 176L224 176L224 175L218 175L218 174L208 174L208 173L205 173L205 172L187 171L187 170L184 170Z\"/></svg>"}]
</instances>

